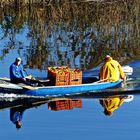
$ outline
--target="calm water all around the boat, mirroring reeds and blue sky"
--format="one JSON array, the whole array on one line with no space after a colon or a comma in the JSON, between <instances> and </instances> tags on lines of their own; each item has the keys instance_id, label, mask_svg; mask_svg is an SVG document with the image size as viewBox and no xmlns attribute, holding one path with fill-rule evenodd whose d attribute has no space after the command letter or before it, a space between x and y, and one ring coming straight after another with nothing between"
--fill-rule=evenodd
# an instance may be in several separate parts
<instances>
[{"instance_id":1,"label":"calm water all around the boat, mirroring reeds and blue sky","mask_svg":"<svg viewBox=\"0 0 140 140\"><path fill-rule=\"evenodd\" d=\"M17 56L22 58L28 73L46 78L48 66L88 70L109 53L122 65L134 68L132 78L140 78L139 5L139 1L91 2L0 9L0 77L9 77L9 65ZM139 139L139 87L127 87L133 88L134 99L124 102L110 117L94 96L81 97L82 108L53 111L47 103L31 105L42 99L1 95L0 138ZM25 110L20 130L10 121L10 107L17 105L23 105Z\"/></svg>"}]
</instances>

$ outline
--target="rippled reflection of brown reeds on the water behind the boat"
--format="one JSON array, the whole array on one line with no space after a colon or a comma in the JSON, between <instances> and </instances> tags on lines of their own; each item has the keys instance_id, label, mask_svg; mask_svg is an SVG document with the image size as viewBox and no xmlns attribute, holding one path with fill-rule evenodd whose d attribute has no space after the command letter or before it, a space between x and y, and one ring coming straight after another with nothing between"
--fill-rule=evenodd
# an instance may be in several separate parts
<instances>
[{"instance_id":1,"label":"rippled reflection of brown reeds on the water behind the boat","mask_svg":"<svg viewBox=\"0 0 140 140\"><path fill-rule=\"evenodd\" d=\"M139 0L3 7L0 59L17 49L19 55L24 52L31 69L56 65L90 69L106 53L127 64L140 58L139 15ZM17 40L24 30L26 39Z\"/></svg>"}]
</instances>

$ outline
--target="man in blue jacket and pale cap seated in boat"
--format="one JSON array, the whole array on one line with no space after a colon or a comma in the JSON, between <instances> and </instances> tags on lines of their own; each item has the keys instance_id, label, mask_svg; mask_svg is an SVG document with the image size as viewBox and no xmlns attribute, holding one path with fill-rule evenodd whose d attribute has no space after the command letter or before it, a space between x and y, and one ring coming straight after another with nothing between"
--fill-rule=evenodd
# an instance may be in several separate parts
<instances>
[{"instance_id":1,"label":"man in blue jacket and pale cap seated in boat","mask_svg":"<svg viewBox=\"0 0 140 140\"><path fill-rule=\"evenodd\" d=\"M26 83L26 75L21 65L21 58L17 57L10 66L10 79L12 83Z\"/></svg>"}]
</instances>

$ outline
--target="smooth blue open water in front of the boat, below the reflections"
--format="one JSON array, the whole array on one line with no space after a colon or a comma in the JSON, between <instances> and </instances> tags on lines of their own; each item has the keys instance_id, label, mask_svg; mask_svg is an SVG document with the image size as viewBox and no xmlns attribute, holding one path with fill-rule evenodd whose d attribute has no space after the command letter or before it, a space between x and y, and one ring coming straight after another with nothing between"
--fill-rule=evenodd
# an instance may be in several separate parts
<instances>
[{"instance_id":1,"label":"smooth blue open water in front of the boat, below the reflections","mask_svg":"<svg viewBox=\"0 0 140 140\"><path fill-rule=\"evenodd\" d=\"M106 117L98 100L83 100L82 109L50 111L46 105L24 112L23 126L16 130L9 121L9 110L1 114L1 139L139 139L139 97L124 103ZM137 108L136 108L137 107Z\"/></svg>"}]
</instances>

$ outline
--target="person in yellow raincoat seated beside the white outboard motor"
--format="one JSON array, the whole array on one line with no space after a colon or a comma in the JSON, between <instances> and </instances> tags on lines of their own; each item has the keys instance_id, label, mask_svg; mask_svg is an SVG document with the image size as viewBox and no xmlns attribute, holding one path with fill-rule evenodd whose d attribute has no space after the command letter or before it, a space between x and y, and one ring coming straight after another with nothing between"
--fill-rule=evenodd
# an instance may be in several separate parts
<instances>
[{"instance_id":1,"label":"person in yellow raincoat seated beside the white outboard motor","mask_svg":"<svg viewBox=\"0 0 140 140\"><path fill-rule=\"evenodd\" d=\"M125 74L121 65L109 55L106 55L104 64L100 69L100 80L104 79L110 79L106 81L113 82L118 81L119 79L125 79Z\"/></svg>"}]
</instances>

